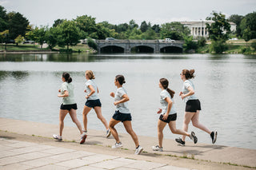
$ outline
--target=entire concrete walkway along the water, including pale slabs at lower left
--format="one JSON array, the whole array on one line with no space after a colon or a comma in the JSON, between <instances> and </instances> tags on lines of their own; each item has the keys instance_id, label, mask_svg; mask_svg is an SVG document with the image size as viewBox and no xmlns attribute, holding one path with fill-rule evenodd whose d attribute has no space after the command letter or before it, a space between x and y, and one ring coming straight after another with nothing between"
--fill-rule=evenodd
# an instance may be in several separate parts
<instances>
[{"instance_id":1,"label":"entire concrete walkway along the water, including pale slabs at lower left","mask_svg":"<svg viewBox=\"0 0 256 170\"><path fill-rule=\"evenodd\" d=\"M151 146L157 144L158 139L138 136L144 152L137 156L134 155L134 142L127 134L119 134L123 148L112 149L110 146L114 144L114 138L110 136L106 139L104 131L90 130L86 143L78 144L78 128L74 127L64 128L63 142L52 139L52 134L58 133L58 125L0 118L0 130L0 169L16 166L15 164L30 166L30 168L42 166L59 168L60 166L67 169L80 167L82 169L86 167L94 167L90 169L178 169L178 167L248 169L246 167L256 167L256 150L254 149L193 144L190 141L186 142L185 147L181 147L174 140L165 139L164 152L154 152ZM18 154L14 156L14 153ZM90 159L95 155L99 160ZM26 158L29 160L24 160ZM48 163L37 163L44 162L41 159ZM6 164L7 160L10 164ZM25 162L27 164L23 164Z\"/></svg>"}]
</instances>

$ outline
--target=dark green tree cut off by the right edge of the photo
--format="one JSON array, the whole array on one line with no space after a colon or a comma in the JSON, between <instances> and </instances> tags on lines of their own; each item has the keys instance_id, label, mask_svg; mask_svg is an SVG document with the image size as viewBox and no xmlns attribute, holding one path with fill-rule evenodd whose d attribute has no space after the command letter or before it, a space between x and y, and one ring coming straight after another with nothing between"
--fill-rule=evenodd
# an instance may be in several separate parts
<instances>
[{"instance_id":1,"label":"dark green tree cut off by the right edge of the photo","mask_svg":"<svg viewBox=\"0 0 256 170\"><path fill-rule=\"evenodd\" d=\"M256 38L256 12L246 14L245 18L242 19L240 28L243 38L246 38L248 41Z\"/></svg>"}]
</instances>

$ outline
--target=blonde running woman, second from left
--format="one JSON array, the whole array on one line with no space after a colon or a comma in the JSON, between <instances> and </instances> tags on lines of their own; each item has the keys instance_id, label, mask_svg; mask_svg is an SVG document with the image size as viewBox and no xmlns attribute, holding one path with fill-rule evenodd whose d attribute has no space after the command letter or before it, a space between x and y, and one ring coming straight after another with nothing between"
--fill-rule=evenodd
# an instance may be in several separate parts
<instances>
[{"instance_id":1,"label":"blonde running woman, second from left","mask_svg":"<svg viewBox=\"0 0 256 170\"><path fill-rule=\"evenodd\" d=\"M102 116L102 103L98 97L98 86L94 82L94 73L91 70L87 70L85 76L87 80L85 89L87 101L82 111L84 132L87 132L87 114L91 109L94 109L98 119L102 121L102 124L106 128L106 137L109 137L111 133L110 129L108 128L106 119Z\"/></svg>"}]
</instances>

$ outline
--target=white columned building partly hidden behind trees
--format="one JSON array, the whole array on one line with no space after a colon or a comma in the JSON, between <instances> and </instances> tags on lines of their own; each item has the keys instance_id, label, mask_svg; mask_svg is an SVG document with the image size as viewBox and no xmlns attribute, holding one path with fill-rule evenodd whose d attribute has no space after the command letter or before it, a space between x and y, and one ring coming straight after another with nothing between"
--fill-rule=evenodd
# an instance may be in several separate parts
<instances>
[{"instance_id":1,"label":"white columned building partly hidden behind trees","mask_svg":"<svg viewBox=\"0 0 256 170\"><path fill-rule=\"evenodd\" d=\"M206 23L211 24L213 23L213 21L181 22L181 23L190 29L190 35L192 35L194 38L199 36L208 38L209 33L208 33L208 30L206 29ZM229 22L229 23L230 23L231 32L235 31L236 25L234 24L234 22Z\"/></svg>"}]
</instances>

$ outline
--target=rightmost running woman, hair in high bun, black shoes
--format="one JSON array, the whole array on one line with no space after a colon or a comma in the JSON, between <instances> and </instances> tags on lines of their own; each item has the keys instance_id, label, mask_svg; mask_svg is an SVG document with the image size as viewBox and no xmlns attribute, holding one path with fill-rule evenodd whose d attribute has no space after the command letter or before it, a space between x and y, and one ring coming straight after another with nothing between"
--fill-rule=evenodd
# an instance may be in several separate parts
<instances>
[{"instance_id":1,"label":"rightmost running woman, hair in high bun, black shoes","mask_svg":"<svg viewBox=\"0 0 256 170\"><path fill-rule=\"evenodd\" d=\"M210 131L209 128L202 125L199 122L199 113L201 110L200 101L198 97L194 95L194 83L191 81L191 78L194 78L194 69L183 69L180 73L181 79L183 82L182 92L179 93L179 96L182 97L182 100L186 103L184 121L183 121L183 130L187 132L189 128L190 121L192 125L196 128L200 128L202 131L207 132L210 135L212 143L214 144L217 140L217 131ZM179 144L185 145L186 136L175 139Z\"/></svg>"}]
</instances>

